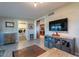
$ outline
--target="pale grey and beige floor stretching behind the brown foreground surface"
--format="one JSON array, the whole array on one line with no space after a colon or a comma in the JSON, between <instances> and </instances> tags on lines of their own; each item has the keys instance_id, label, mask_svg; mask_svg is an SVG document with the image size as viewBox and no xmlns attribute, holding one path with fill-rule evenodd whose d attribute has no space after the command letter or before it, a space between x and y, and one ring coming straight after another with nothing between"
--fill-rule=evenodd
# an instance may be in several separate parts
<instances>
[{"instance_id":1,"label":"pale grey and beige floor stretching behind the brown foreground surface","mask_svg":"<svg viewBox=\"0 0 79 59\"><path fill-rule=\"evenodd\" d=\"M48 50L48 48L44 47L44 40L41 40L41 39L23 40L23 41L21 40L18 43L4 45L4 46L0 46L0 47L5 50L3 57L12 57L12 51L31 46L33 44L38 45L45 50Z\"/></svg>"}]
</instances>

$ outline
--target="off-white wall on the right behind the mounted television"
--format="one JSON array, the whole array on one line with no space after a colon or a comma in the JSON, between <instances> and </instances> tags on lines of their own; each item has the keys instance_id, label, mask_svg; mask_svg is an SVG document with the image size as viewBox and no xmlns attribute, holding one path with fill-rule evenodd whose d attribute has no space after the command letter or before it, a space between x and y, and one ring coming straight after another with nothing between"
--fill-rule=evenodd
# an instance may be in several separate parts
<instances>
[{"instance_id":1,"label":"off-white wall on the right behind the mounted television","mask_svg":"<svg viewBox=\"0 0 79 59\"><path fill-rule=\"evenodd\" d=\"M71 3L53 10L54 15L45 17L45 35L53 34L49 31L49 21L68 18L68 32L59 32L61 36L76 38L76 54L79 54L79 3Z\"/></svg>"}]
</instances>

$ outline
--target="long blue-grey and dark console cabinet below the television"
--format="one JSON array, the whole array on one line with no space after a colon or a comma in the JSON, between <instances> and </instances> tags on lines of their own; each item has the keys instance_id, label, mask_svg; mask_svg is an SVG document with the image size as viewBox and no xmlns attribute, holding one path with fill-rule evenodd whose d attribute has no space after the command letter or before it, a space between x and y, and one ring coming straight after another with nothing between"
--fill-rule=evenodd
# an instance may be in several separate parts
<instances>
[{"instance_id":1,"label":"long blue-grey and dark console cabinet below the television","mask_svg":"<svg viewBox=\"0 0 79 59\"><path fill-rule=\"evenodd\" d=\"M75 39L45 36L44 42L47 48L55 47L68 53L75 54Z\"/></svg>"}]
</instances>

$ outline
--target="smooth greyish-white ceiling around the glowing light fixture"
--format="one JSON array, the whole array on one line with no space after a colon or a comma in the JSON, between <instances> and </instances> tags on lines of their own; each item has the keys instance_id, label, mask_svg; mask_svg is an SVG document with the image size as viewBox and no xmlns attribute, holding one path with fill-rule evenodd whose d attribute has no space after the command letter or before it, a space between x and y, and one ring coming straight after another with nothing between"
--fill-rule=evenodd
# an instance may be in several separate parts
<instances>
[{"instance_id":1,"label":"smooth greyish-white ceiling around the glowing light fixture","mask_svg":"<svg viewBox=\"0 0 79 59\"><path fill-rule=\"evenodd\" d=\"M67 2L45 2L34 7L33 2L0 2L0 16L36 19L65 4Z\"/></svg>"}]
</instances>

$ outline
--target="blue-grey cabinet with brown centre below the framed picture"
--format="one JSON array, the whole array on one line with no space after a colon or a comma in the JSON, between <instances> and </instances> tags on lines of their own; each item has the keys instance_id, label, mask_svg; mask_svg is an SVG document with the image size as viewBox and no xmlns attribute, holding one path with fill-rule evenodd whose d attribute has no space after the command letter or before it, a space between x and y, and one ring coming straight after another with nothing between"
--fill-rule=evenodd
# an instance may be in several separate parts
<instances>
[{"instance_id":1,"label":"blue-grey cabinet with brown centre below the framed picture","mask_svg":"<svg viewBox=\"0 0 79 59\"><path fill-rule=\"evenodd\" d=\"M0 45L12 44L17 40L17 33L0 33Z\"/></svg>"}]
</instances>

